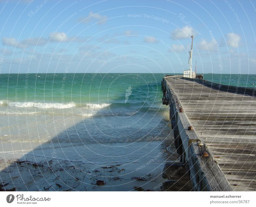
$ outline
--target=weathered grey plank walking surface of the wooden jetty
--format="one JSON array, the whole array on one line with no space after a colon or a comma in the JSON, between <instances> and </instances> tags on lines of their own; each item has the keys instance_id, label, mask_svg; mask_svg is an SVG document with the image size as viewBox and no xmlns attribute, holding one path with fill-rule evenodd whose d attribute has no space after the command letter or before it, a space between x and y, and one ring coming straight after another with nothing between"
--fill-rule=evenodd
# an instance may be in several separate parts
<instances>
[{"instance_id":1,"label":"weathered grey plank walking surface of the wooden jetty","mask_svg":"<svg viewBox=\"0 0 256 207\"><path fill-rule=\"evenodd\" d=\"M181 76L164 77L164 84L164 101L170 107L176 105L174 114L179 107L183 108L195 136L208 146L231 188L234 191L255 191L256 88L253 94L244 94ZM176 96L178 101L173 100ZM177 116L176 121L179 121ZM179 131L181 133L180 127ZM188 154L186 156L189 159ZM185 161L189 163L189 160Z\"/></svg>"}]
</instances>

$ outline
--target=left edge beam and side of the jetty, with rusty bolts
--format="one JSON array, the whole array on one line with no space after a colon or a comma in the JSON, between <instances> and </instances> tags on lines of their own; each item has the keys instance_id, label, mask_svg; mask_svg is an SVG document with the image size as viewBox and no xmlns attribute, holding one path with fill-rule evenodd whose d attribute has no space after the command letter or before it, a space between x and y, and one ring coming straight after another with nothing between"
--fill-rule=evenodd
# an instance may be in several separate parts
<instances>
[{"instance_id":1,"label":"left edge beam and side of the jetty, with rusty bolts","mask_svg":"<svg viewBox=\"0 0 256 207\"><path fill-rule=\"evenodd\" d=\"M182 76L177 76L182 77ZM202 142L186 115L184 108L168 85L162 81L163 104L170 107L170 120L174 134L174 144L180 160L186 163L195 191L232 191L218 163L214 160L207 144Z\"/></svg>"}]
</instances>

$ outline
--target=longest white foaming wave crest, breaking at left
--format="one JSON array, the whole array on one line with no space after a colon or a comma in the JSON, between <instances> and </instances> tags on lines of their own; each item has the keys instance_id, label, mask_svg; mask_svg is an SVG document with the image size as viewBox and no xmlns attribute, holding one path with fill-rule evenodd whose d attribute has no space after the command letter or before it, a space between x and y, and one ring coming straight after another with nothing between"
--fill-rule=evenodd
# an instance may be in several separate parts
<instances>
[{"instance_id":1,"label":"longest white foaming wave crest, breaking at left","mask_svg":"<svg viewBox=\"0 0 256 207\"><path fill-rule=\"evenodd\" d=\"M41 103L41 102L8 102L9 107L35 107L35 108L71 108L75 102L63 103Z\"/></svg>"}]
</instances>

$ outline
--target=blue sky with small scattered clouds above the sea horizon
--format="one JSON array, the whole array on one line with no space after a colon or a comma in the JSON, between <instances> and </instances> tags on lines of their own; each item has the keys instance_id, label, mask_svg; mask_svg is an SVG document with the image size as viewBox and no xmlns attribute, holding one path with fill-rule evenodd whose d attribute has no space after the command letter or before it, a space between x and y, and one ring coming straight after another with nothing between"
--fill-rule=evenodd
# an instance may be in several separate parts
<instances>
[{"instance_id":1,"label":"blue sky with small scattered clouds above the sea horizon","mask_svg":"<svg viewBox=\"0 0 256 207\"><path fill-rule=\"evenodd\" d=\"M0 73L256 74L255 1L0 0ZM193 66L194 67L194 66Z\"/></svg>"}]
</instances>

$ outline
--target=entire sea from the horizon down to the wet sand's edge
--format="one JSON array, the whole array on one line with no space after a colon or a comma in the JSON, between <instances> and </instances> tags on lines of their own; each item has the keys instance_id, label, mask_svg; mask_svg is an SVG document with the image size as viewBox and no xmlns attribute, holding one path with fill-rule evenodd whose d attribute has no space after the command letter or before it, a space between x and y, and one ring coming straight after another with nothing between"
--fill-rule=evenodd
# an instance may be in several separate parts
<instances>
[{"instance_id":1,"label":"entire sea from the horizon down to the wet sand's edge","mask_svg":"<svg viewBox=\"0 0 256 207\"><path fill-rule=\"evenodd\" d=\"M176 160L169 108L162 105L164 75L0 74L0 153L107 163L147 161L168 148L171 155L157 161ZM256 81L204 78L247 87Z\"/></svg>"}]
</instances>

